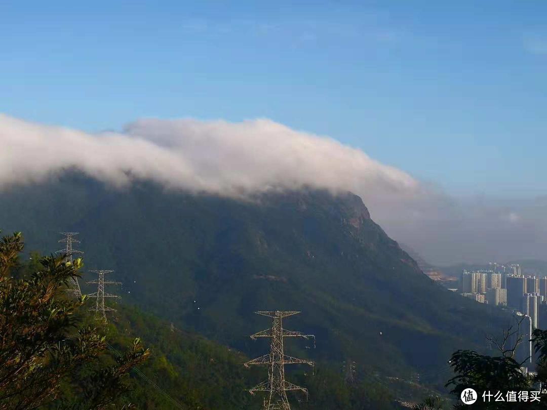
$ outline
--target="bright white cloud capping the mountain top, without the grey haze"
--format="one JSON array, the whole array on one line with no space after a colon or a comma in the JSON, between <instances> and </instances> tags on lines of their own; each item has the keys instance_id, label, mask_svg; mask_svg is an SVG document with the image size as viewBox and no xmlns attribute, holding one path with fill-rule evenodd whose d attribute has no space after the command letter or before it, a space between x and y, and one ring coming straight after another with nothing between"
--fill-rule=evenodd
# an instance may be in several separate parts
<instances>
[{"instance_id":1,"label":"bright white cloud capping the mountain top, without the grey haze","mask_svg":"<svg viewBox=\"0 0 547 410\"><path fill-rule=\"evenodd\" d=\"M0 139L0 186L78 168L116 185L147 178L226 196L306 185L410 195L419 188L410 175L363 151L264 119L145 119L124 133L90 134L3 115Z\"/></svg>"}]
</instances>

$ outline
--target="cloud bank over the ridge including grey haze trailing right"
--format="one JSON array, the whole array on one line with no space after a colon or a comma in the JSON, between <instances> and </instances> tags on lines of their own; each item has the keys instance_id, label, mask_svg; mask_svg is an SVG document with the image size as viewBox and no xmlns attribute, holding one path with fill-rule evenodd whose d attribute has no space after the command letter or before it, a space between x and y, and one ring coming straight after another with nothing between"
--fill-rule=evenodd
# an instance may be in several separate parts
<instances>
[{"instance_id":1,"label":"cloud bank over the ridge including grey haze trailing right","mask_svg":"<svg viewBox=\"0 0 547 410\"><path fill-rule=\"evenodd\" d=\"M0 115L0 143L0 195L66 169L116 186L151 179L229 197L309 186L361 196L389 235L433 262L530 257L547 244L542 224L518 207L462 204L362 150L266 119L142 119L124 132L92 134ZM511 237L526 244L526 255Z\"/></svg>"}]
</instances>

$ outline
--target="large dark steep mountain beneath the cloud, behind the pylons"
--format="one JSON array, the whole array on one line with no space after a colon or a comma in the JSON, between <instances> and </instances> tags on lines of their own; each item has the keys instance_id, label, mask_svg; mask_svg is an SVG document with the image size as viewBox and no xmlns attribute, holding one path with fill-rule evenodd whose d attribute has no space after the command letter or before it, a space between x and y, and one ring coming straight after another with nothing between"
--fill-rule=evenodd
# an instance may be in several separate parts
<instances>
[{"instance_id":1,"label":"large dark steep mountain beneath the cloud, behind the pylons","mask_svg":"<svg viewBox=\"0 0 547 410\"><path fill-rule=\"evenodd\" d=\"M66 174L3 191L0 226L41 251L80 232L86 266L115 270L125 300L248 355L267 349L247 337L269 326L253 311L299 310L286 326L315 334L317 349L289 342L293 355L440 382L453 350L480 349L486 323L505 321L433 283L351 194L236 201Z\"/></svg>"}]
</instances>

